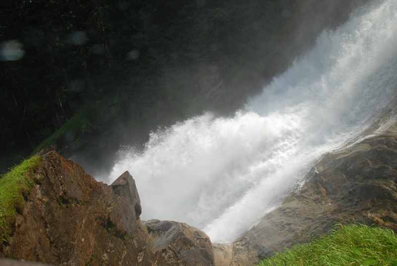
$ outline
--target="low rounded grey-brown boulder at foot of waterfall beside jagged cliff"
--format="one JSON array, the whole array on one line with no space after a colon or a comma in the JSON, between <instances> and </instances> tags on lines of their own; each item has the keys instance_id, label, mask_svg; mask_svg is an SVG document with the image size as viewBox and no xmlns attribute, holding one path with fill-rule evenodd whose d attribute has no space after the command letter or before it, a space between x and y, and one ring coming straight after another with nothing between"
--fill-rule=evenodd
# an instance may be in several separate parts
<instances>
[{"instance_id":1,"label":"low rounded grey-brown boulder at foot of waterfall beside jagged cliff","mask_svg":"<svg viewBox=\"0 0 397 266\"><path fill-rule=\"evenodd\" d=\"M173 221L149 220L144 225L163 265L214 265L211 241L199 229Z\"/></svg>"}]
</instances>

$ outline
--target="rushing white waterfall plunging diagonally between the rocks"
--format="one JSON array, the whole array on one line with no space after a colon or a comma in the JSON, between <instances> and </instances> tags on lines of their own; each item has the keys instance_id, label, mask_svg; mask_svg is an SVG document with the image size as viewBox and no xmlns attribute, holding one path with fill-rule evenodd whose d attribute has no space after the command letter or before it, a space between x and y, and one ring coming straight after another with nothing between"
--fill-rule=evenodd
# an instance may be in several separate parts
<instances>
[{"instance_id":1,"label":"rushing white waterfall plunging diagonally between the rocks","mask_svg":"<svg viewBox=\"0 0 397 266\"><path fill-rule=\"evenodd\" d=\"M121 152L142 218L171 219L228 242L257 222L310 163L360 133L397 85L397 0L358 10L232 118L210 113Z\"/></svg>"}]
</instances>

